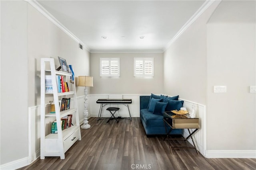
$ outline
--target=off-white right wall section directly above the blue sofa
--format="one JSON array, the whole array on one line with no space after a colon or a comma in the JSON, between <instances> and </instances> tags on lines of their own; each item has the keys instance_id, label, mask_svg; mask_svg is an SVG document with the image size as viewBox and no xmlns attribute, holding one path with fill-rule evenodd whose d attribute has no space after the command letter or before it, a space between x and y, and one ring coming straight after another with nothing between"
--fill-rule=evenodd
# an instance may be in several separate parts
<instances>
[{"instance_id":1,"label":"off-white right wall section directly above the blue sofa","mask_svg":"<svg viewBox=\"0 0 256 170\"><path fill-rule=\"evenodd\" d=\"M206 22L219 2L214 2L164 52L164 94L206 104Z\"/></svg>"}]
</instances>

